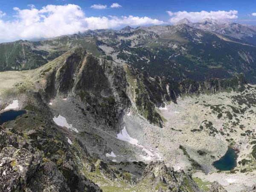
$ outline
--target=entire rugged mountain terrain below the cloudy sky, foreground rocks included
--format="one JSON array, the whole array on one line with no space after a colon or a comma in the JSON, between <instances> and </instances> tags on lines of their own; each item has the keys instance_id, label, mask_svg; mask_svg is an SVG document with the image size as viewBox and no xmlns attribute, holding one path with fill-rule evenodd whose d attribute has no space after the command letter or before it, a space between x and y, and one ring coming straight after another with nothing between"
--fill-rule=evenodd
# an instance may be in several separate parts
<instances>
[{"instance_id":1,"label":"entire rugged mountain terrain below the cloudy sky, foreground rocks included","mask_svg":"<svg viewBox=\"0 0 256 192\"><path fill-rule=\"evenodd\" d=\"M0 191L256 191L255 35L184 18L0 44Z\"/></svg>"}]
</instances>

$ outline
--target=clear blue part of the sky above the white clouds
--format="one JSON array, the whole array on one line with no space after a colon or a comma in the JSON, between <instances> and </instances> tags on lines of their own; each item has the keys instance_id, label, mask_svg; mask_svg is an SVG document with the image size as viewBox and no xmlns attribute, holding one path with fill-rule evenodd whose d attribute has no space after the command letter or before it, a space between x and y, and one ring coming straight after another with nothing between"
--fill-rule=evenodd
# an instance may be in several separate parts
<instances>
[{"instance_id":1,"label":"clear blue part of the sky above the white clouds","mask_svg":"<svg viewBox=\"0 0 256 192\"><path fill-rule=\"evenodd\" d=\"M256 12L256 0L0 0L0 10L12 17L15 13L13 7L27 9L27 5L33 4L36 8L41 8L49 4L64 5L72 3L80 6L86 16L108 16L108 15L136 15L148 16L159 20L167 21L169 16L166 11L178 12L200 12L218 10L237 10L240 23L256 25L256 17L250 14ZM119 3L119 9L91 9L93 4L110 6L112 3ZM6 18L8 19L8 18ZM245 21L248 20L248 21Z\"/></svg>"}]
</instances>

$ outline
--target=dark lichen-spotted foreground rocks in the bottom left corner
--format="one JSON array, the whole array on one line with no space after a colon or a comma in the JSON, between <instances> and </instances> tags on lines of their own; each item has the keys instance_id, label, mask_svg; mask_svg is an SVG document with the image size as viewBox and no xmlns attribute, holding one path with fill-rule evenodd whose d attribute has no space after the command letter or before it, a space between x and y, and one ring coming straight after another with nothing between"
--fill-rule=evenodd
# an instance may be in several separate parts
<instances>
[{"instance_id":1,"label":"dark lichen-spotted foreground rocks in the bottom left corner","mask_svg":"<svg viewBox=\"0 0 256 192\"><path fill-rule=\"evenodd\" d=\"M71 151L67 149L68 159L54 163L56 154L50 150L44 154L44 151L39 150L40 140L32 137L35 134L40 135L36 130L32 130L23 137L19 131L0 126L0 191L101 191L99 186L77 171ZM52 148L47 142L41 145L41 149ZM61 153L64 157L65 152Z\"/></svg>"}]
</instances>

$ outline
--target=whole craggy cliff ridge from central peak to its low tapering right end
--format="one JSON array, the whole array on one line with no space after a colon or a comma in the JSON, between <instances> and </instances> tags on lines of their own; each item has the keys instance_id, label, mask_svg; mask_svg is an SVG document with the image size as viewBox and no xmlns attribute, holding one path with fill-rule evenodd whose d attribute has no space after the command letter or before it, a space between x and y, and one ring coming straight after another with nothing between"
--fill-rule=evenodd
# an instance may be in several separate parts
<instances>
[{"instance_id":1,"label":"whole craggy cliff ridge from central peak to its low tapering right end","mask_svg":"<svg viewBox=\"0 0 256 192\"><path fill-rule=\"evenodd\" d=\"M163 120L156 108L164 102L176 102L183 94L215 93L228 88L242 89L244 76L233 79L209 79L204 82L169 81L148 76L128 65L96 58L85 49L67 52L63 58L49 63L42 95L46 100L56 95L72 95L81 109L93 114L99 122L117 128L124 111L135 108L152 124L162 127ZM51 67L50 67L51 66Z\"/></svg>"}]
</instances>

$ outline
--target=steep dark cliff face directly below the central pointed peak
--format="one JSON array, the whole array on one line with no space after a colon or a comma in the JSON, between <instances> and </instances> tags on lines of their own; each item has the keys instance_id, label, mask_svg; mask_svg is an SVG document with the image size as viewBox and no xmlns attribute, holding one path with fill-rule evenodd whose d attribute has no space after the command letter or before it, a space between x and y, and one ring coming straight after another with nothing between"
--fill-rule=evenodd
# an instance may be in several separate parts
<instances>
[{"instance_id":1,"label":"steep dark cliff face directly below the central pointed peak","mask_svg":"<svg viewBox=\"0 0 256 192\"><path fill-rule=\"evenodd\" d=\"M83 111L115 128L123 111L131 105L122 67L95 58L84 49L76 49L64 60L53 62L44 87L45 99L71 95Z\"/></svg>"}]
</instances>

